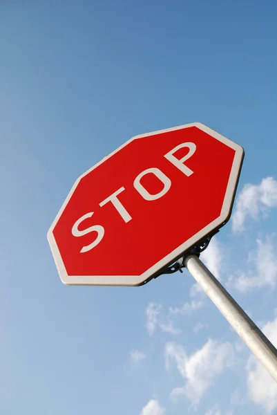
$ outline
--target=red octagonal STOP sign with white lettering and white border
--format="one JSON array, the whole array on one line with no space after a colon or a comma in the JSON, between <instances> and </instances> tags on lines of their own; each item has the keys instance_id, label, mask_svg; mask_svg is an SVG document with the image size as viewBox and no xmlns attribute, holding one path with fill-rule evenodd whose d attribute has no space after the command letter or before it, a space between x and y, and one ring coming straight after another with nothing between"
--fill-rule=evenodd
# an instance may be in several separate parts
<instances>
[{"instance_id":1,"label":"red octagonal STOP sign with white lettering and white border","mask_svg":"<svg viewBox=\"0 0 277 415\"><path fill-rule=\"evenodd\" d=\"M48 232L65 284L139 285L229 219L243 149L200 123L126 142L81 176Z\"/></svg>"}]
</instances>

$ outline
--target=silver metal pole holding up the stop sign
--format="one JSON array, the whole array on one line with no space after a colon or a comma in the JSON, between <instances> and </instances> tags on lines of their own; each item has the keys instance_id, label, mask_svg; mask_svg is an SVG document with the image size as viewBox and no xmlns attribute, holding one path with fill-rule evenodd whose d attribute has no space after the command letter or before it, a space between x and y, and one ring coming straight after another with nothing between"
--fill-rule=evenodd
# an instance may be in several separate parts
<instances>
[{"instance_id":1,"label":"silver metal pole holding up the stop sign","mask_svg":"<svg viewBox=\"0 0 277 415\"><path fill-rule=\"evenodd\" d=\"M277 382L277 350L274 345L196 255L187 255L184 258L184 265Z\"/></svg>"}]
</instances>

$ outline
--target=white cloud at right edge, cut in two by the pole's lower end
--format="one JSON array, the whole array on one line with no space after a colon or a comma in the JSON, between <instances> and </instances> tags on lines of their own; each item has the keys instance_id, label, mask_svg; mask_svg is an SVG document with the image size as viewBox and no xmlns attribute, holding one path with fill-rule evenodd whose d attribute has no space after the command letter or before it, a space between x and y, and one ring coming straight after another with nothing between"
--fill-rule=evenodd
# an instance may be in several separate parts
<instances>
[{"instance_id":1,"label":"white cloud at right edge, cut in two by the pole's lower end","mask_svg":"<svg viewBox=\"0 0 277 415\"><path fill-rule=\"evenodd\" d=\"M263 333L277 346L277 317L262 327ZM251 400L270 414L277 407L277 383L260 362L251 356L247 362L247 386Z\"/></svg>"}]
</instances>

